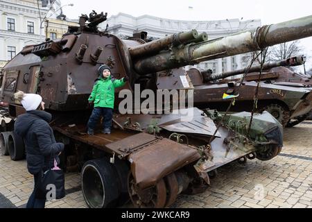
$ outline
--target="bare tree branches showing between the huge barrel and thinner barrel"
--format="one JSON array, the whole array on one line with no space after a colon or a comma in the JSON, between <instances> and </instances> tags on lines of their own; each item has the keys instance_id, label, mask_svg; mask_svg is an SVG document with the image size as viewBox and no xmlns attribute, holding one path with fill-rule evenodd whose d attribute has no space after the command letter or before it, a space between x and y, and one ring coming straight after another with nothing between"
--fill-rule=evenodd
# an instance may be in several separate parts
<instances>
[{"instance_id":1,"label":"bare tree branches showing between the huge barrel and thinner barrel","mask_svg":"<svg viewBox=\"0 0 312 222\"><path fill-rule=\"evenodd\" d=\"M302 47L300 46L299 40L284 42L268 49L267 61L285 60L286 58L297 56L300 53L302 53Z\"/></svg>"}]
</instances>

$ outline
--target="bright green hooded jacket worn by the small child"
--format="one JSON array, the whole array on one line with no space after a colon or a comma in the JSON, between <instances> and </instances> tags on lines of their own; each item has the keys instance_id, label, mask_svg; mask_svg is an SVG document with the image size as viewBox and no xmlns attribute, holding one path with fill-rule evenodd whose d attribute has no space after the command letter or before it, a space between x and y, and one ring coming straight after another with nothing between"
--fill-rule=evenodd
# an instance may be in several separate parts
<instances>
[{"instance_id":1,"label":"bright green hooded jacket worn by the small child","mask_svg":"<svg viewBox=\"0 0 312 222\"><path fill-rule=\"evenodd\" d=\"M125 85L123 78L121 80L112 80L111 76L106 79L98 78L96 83L94 83L94 87L88 101L94 102L94 108L103 107L113 109L115 88L123 87L123 85Z\"/></svg>"}]
</instances>

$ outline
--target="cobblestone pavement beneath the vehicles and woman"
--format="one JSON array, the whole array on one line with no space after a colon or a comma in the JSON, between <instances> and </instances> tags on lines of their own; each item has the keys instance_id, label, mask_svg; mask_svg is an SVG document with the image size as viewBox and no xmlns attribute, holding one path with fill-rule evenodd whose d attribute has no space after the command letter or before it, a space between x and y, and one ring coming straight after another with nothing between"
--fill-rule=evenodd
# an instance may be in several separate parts
<instances>
[{"instance_id":1,"label":"cobblestone pavement beneath the vehicles and woman","mask_svg":"<svg viewBox=\"0 0 312 222\"><path fill-rule=\"evenodd\" d=\"M312 121L284 131L284 148L272 160L229 163L218 169L202 194L180 195L172 207L309 207L312 208ZM0 207L25 207L33 188L26 161L0 156ZM67 173L67 196L47 208L87 207L79 173Z\"/></svg>"}]
</instances>

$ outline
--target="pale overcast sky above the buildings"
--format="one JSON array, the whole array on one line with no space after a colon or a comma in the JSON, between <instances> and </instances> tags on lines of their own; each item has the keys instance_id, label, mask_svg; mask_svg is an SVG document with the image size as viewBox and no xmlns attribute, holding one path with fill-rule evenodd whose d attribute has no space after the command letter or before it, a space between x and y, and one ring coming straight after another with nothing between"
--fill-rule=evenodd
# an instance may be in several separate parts
<instances>
[{"instance_id":1,"label":"pale overcast sky above the buildings","mask_svg":"<svg viewBox=\"0 0 312 222\"><path fill-rule=\"evenodd\" d=\"M218 20L218 19L261 19L261 24L275 24L290 19L312 15L311 0L60 0L63 12L70 19L81 14L89 15L92 10L107 12L108 17L124 12L132 16L153 15L167 19ZM309 57L307 67L312 67L312 37L300 40Z\"/></svg>"}]
</instances>

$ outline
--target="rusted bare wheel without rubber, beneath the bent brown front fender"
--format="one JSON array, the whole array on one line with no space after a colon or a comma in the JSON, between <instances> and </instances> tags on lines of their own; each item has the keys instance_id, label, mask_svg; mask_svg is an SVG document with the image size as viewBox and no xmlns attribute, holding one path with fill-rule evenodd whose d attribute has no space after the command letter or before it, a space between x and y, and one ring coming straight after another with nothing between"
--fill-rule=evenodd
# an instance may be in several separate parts
<instances>
[{"instance_id":1,"label":"rusted bare wheel without rubber, beneath the bent brown front fender","mask_svg":"<svg viewBox=\"0 0 312 222\"><path fill-rule=\"evenodd\" d=\"M166 185L163 179L154 187L142 190L136 184L132 173L129 173L128 186L130 199L135 207L162 208L166 205Z\"/></svg>"}]
</instances>

